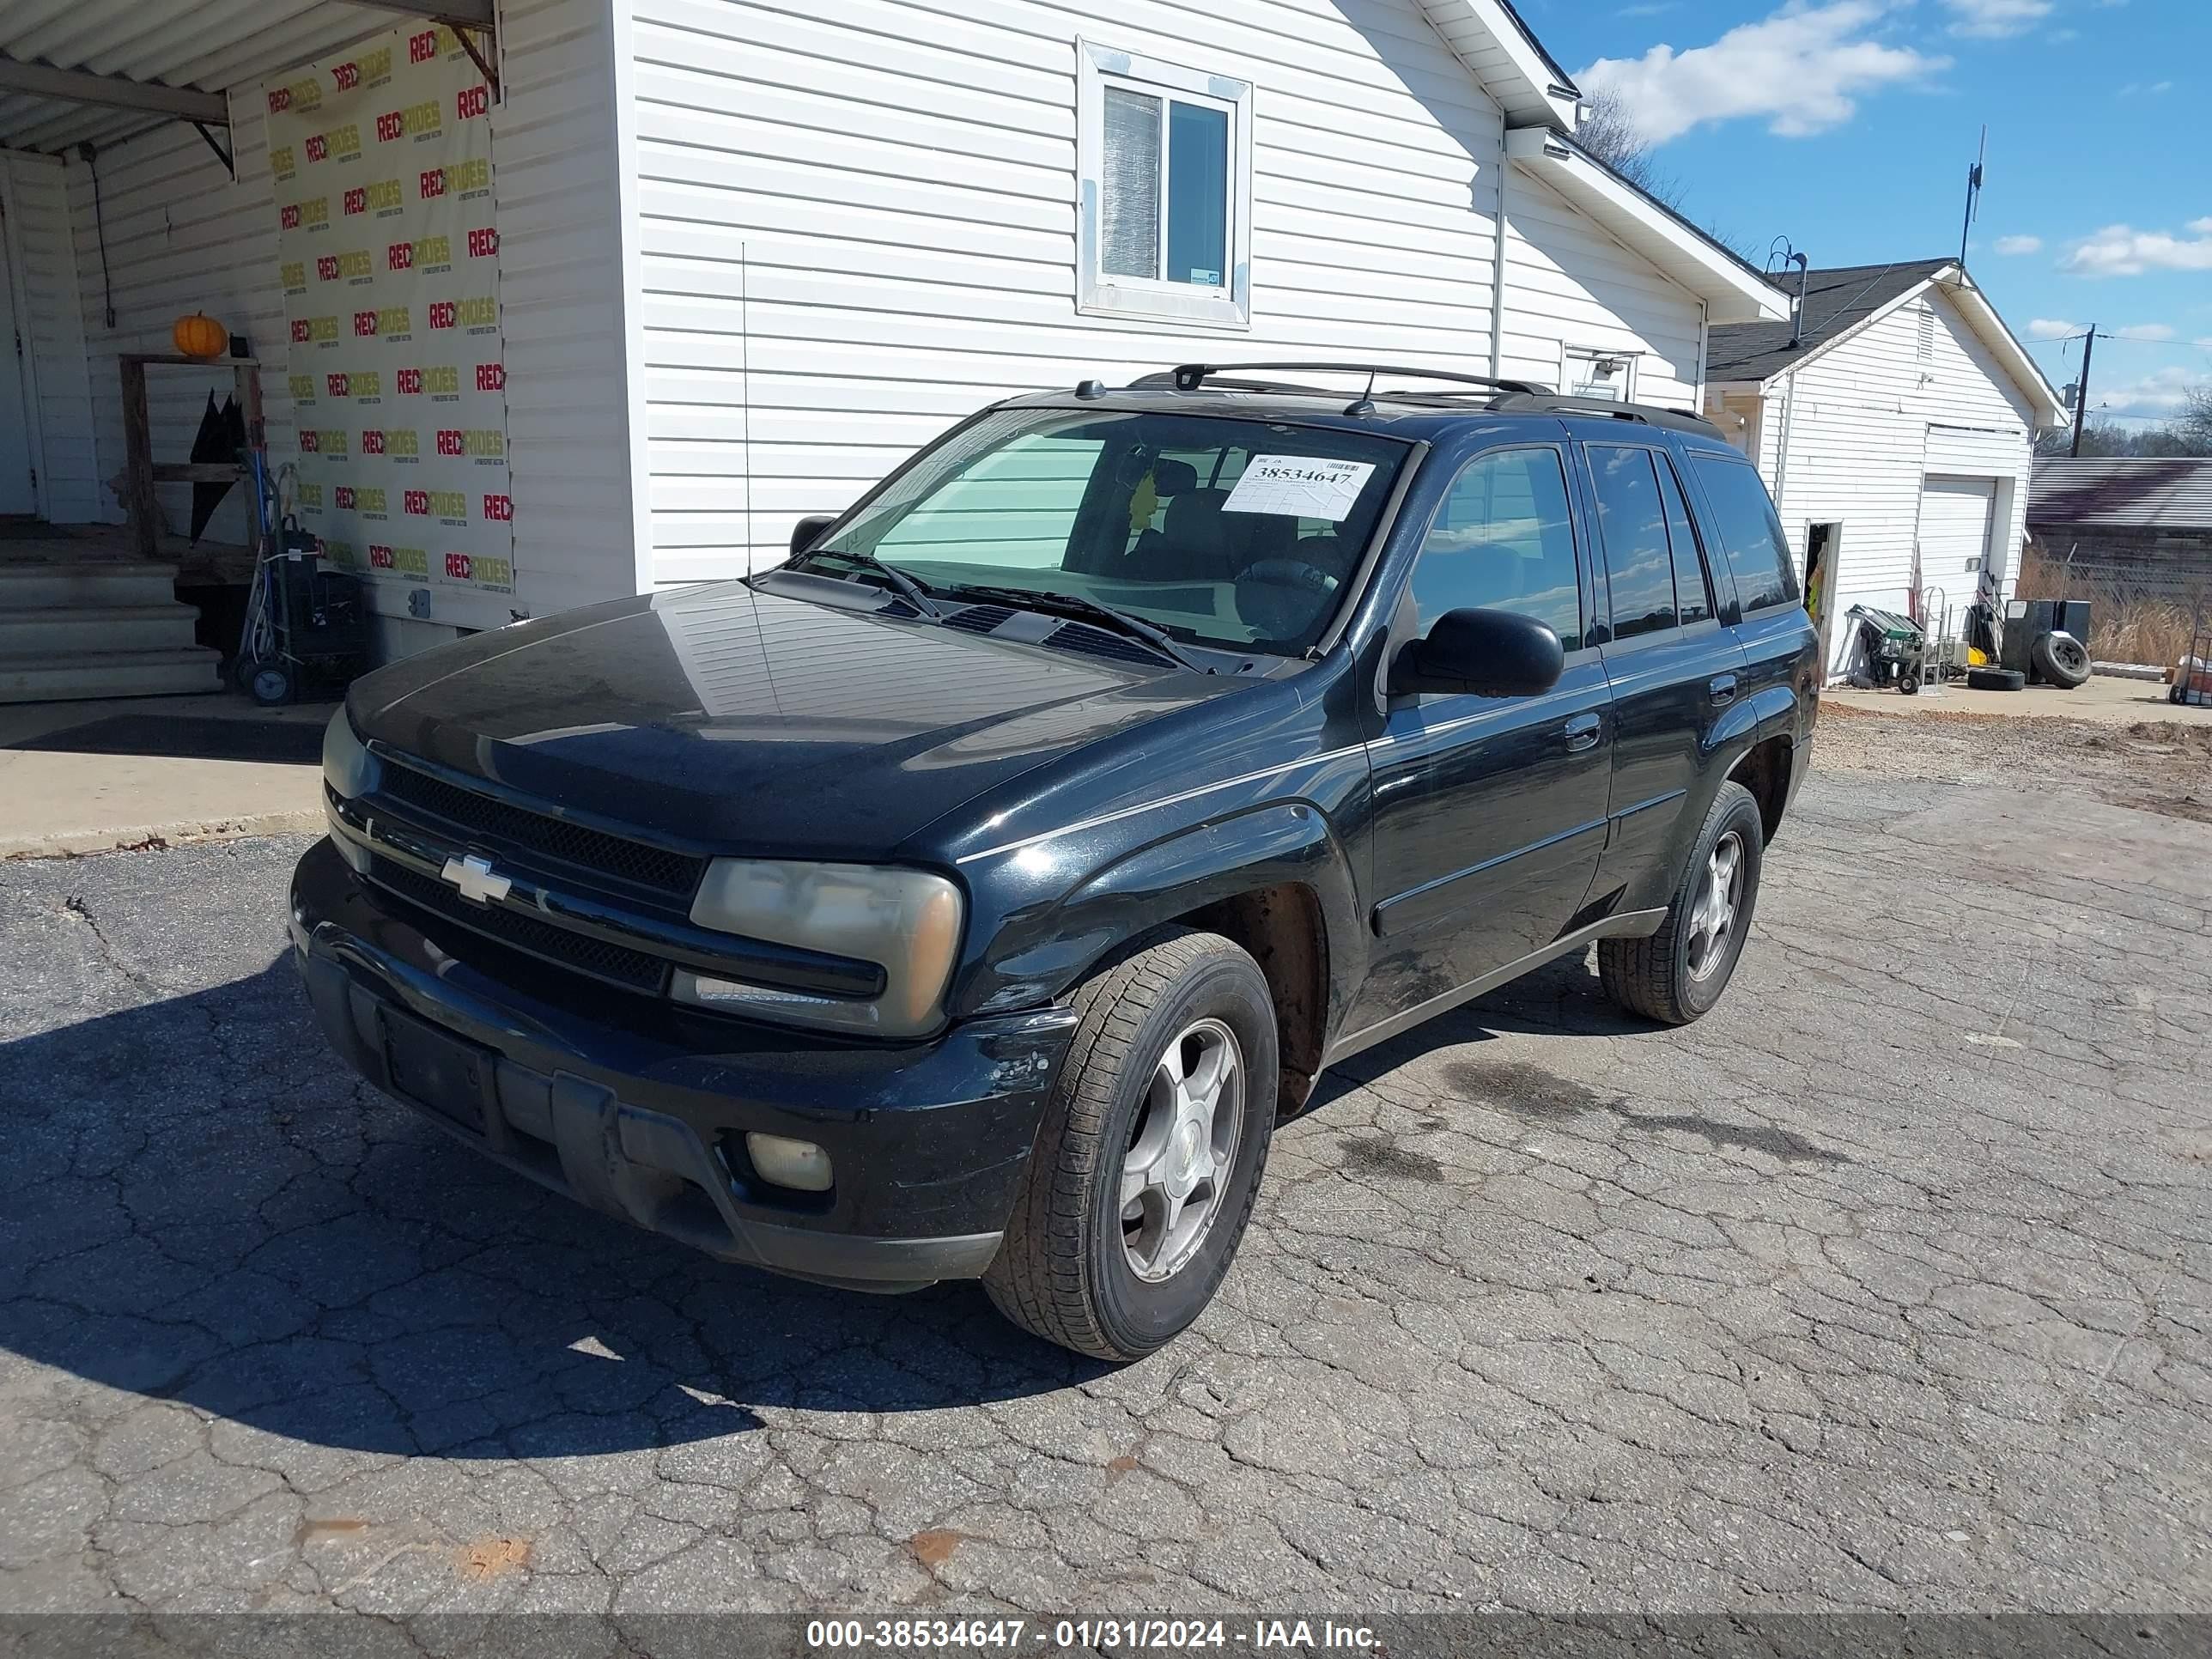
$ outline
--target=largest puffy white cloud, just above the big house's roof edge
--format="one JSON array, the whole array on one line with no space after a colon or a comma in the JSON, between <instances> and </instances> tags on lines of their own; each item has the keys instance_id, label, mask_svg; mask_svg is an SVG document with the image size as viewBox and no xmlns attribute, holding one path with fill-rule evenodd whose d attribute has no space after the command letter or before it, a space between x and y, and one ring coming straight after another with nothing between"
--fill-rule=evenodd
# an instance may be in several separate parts
<instances>
[{"instance_id":1,"label":"largest puffy white cloud, just above the big house's roof edge","mask_svg":"<svg viewBox=\"0 0 2212 1659\"><path fill-rule=\"evenodd\" d=\"M1767 131L1781 137L1807 137L1851 119L1858 95L1927 80L1951 64L1874 40L1887 11L1887 0L1792 0L1710 46L1661 44L1641 58L1599 58L1575 80L1617 91L1655 144L1743 115L1767 117Z\"/></svg>"}]
</instances>

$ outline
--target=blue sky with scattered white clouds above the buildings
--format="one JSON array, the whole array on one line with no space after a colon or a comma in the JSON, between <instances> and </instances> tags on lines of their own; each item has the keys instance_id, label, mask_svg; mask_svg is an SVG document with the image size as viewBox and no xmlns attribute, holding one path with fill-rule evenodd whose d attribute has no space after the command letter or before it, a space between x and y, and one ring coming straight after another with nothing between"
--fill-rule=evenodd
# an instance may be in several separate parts
<instances>
[{"instance_id":1,"label":"blue sky with scattered white clouds above the buildings","mask_svg":"<svg viewBox=\"0 0 2212 1659\"><path fill-rule=\"evenodd\" d=\"M2090 407L2212 383L2212 0L1517 0L1584 91L1617 86L1683 208L1814 265L1958 252Z\"/></svg>"}]
</instances>

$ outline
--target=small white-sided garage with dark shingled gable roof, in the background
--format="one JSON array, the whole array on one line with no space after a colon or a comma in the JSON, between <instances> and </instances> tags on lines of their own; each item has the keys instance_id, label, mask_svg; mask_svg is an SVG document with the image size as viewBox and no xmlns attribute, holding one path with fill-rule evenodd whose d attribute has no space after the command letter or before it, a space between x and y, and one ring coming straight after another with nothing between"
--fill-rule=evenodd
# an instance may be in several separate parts
<instances>
[{"instance_id":1,"label":"small white-sided garage with dark shingled gable roof, in the background","mask_svg":"<svg viewBox=\"0 0 2212 1659\"><path fill-rule=\"evenodd\" d=\"M2064 405L1953 261L1807 272L1792 323L1712 330L1705 414L1759 462L1805 571L1812 526L1834 526L1816 602L1829 670L1843 611L1918 611L1951 628L2011 597L2026 538L2035 434Z\"/></svg>"}]
</instances>

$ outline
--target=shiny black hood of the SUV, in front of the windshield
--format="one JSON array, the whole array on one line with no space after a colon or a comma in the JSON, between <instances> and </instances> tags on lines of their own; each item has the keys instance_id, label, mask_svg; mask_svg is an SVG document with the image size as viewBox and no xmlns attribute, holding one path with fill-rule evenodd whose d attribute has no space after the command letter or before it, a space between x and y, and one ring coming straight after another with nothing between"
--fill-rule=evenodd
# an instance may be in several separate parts
<instances>
[{"instance_id":1,"label":"shiny black hood of the SUV, in front of the windshield","mask_svg":"<svg viewBox=\"0 0 2212 1659\"><path fill-rule=\"evenodd\" d=\"M1011 776L1250 684L728 582L409 657L347 710L372 743L586 818L880 858Z\"/></svg>"}]
</instances>

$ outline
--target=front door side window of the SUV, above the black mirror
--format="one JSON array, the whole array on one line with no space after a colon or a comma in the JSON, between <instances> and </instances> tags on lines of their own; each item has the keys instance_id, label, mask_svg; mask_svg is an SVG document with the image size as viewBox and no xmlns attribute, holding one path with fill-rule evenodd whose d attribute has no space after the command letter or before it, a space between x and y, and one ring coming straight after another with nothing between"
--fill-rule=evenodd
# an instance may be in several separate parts
<instances>
[{"instance_id":1,"label":"front door side window of the SUV, above the black mirror","mask_svg":"<svg viewBox=\"0 0 2212 1659\"><path fill-rule=\"evenodd\" d=\"M1582 646L1575 522L1557 449L1498 449L1467 462L1413 566L1420 630L1447 611L1520 611Z\"/></svg>"}]
</instances>

